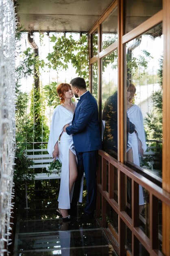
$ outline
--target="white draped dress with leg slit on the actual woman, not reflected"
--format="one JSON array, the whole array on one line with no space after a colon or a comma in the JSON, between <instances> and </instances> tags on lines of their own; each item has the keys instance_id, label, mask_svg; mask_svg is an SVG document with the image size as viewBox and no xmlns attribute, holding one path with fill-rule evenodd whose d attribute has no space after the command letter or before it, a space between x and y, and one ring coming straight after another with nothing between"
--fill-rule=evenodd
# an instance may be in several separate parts
<instances>
[{"instance_id":1,"label":"white draped dress with leg slit on the actual woman, not reflected","mask_svg":"<svg viewBox=\"0 0 170 256\"><path fill-rule=\"evenodd\" d=\"M59 209L70 209L70 202L72 201L72 193L69 193L69 150L76 155L76 151L73 144L72 135L68 135L63 132L65 124L72 125L73 113L65 107L59 105L54 109L54 113L51 121L50 135L48 140L48 153L52 156L54 146L58 141L59 146L59 160L62 163L61 167L61 182L59 191ZM62 133L62 134L61 134ZM61 135L60 141L59 137ZM81 192L79 196L79 202L82 202L83 198L83 177L81 181Z\"/></svg>"}]
</instances>

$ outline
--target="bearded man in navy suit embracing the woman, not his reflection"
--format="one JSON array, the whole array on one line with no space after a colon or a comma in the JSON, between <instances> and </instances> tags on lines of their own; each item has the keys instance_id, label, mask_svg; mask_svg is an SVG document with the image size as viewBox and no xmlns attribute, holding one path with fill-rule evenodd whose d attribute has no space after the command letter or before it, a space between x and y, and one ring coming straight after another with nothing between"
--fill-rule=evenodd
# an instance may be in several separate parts
<instances>
[{"instance_id":1,"label":"bearded man in navy suit embracing the woman, not his reflection","mask_svg":"<svg viewBox=\"0 0 170 256\"><path fill-rule=\"evenodd\" d=\"M96 172L97 150L101 149L101 134L98 122L98 106L96 99L86 89L85 80L76 77L70 81L76 98L80 97L74 113L72 125L66 125L65 131L73 135L74 147L78 159L78 177L74 185L71 213L76 213L81 178L85 172L87 186L87 202L80 221L93 218L96 207Z\"/></svg>"}]
</instances>

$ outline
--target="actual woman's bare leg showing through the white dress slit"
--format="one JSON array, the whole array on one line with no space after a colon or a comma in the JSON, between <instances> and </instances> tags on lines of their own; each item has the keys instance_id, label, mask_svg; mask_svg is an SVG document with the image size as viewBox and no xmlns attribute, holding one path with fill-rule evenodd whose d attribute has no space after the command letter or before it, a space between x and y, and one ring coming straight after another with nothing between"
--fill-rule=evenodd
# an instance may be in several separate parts
<instances>
[{"instance_id":1,"label":"actual woman's bare leg showing through the white dress slit","mask_svg":"<svg viewBox=\"0 0 170 256\"><path fill-rule=\"evenodd\" d=\"M69 150L69 192L72 190L72 186L77 178L77 162L76 156ZM68 209L60 209L63 217L68 216Z\"/></svg>"}]
</instances>

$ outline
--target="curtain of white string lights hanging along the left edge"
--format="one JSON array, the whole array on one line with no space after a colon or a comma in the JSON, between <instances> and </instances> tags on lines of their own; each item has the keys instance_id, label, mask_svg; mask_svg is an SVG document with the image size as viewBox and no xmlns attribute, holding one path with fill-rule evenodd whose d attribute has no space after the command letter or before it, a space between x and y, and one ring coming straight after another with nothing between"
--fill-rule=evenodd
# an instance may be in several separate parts
<instances>
[{"instance_id":1,"label":"curtain of white string lights hanging along the left edge","mask_svg":"<svg viewBox=\"0 0 170 256\"><path fill-rule=\"evenodd\" d=\"M11 234L15 157L15 26L12 0L0 0L0 256Z\"/></svg>"}]
</instances>

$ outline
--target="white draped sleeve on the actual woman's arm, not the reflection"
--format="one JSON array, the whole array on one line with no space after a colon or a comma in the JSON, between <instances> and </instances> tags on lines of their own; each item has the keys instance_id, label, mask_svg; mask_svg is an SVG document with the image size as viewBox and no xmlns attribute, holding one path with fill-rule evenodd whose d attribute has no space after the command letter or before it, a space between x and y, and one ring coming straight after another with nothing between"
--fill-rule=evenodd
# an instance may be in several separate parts
<instances>
[{"instance_id":1,"label":"white draped sleeve on the actual woman's arm, not the reflection","mask_svg":"<svg viewBox=\"0 0 170 256\"><path fill-rule=\"evenodd\" d=\"M50 135L48 140L47 150L50 156L52 157L52 152L54 150L54 146L57 141L59 141L59 137L63 132L63 127L65 124L72 124L72 115L66 110L63 106L59 105L54 109L54 113L52 115L51 127L50 127ZM59 145L59 142L58 142ZM59 145L59 159L62 159L60 145Z\"/></svg>"}]
</instances>

